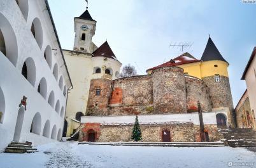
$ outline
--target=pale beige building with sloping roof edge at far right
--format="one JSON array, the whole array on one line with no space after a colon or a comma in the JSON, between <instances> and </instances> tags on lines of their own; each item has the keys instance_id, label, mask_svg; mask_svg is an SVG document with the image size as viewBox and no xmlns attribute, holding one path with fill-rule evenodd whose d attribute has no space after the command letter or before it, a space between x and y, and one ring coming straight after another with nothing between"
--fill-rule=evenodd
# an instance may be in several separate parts
<instances>
[{"instance_id":1,"label":"pale beige building with sloping roof edge at far right","mask_svg":"<svg viewBox=\"0 0 256 168\"><path fill-rule=\"evenodd\" d=\"M242 80L245 80L247 91L248 91L248 98L250 100L250 108L254 113L256 110L256 47L253 48L252 55L250 56L250 60L248 61L245 72L243 72ZM255 113L254 117L255 118Z\"/></svg>"}]
</instances>

